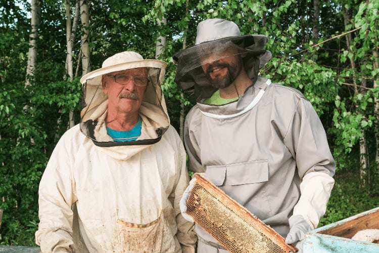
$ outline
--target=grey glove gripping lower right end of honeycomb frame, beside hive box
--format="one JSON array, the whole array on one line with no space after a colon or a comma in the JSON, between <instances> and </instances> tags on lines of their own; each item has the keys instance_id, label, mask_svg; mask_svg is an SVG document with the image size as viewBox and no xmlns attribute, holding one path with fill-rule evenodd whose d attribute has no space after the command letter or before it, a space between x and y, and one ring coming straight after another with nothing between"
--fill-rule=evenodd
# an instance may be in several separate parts
<instances>
[{"instance_id":1,"label":"grey glove gripping lower right end of honeycomb frame, beside hive box","mask_svg":"<svg viewBox=\"0 0 379 253\"><path fill-rule=\"evenodd\" d=\"M312 228L301 215L291 216L288 221L290 223L290 232L286 237L286 243L295 244L295 247L299 249L298 253L301 253L303 252L304 235L311 231Z\"/></svg>"}]
</instances>

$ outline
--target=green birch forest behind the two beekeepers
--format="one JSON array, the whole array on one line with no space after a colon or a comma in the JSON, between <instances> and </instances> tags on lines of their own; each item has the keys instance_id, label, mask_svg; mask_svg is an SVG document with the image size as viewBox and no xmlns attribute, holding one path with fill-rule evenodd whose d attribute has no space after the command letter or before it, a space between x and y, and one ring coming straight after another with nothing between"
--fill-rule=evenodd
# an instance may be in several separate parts
<instances>
[{"instance_id":1,"label":"green birch forest behind the two beekeepers","mask_svg":"<svg viewBox=\"0 0 379 253\"><path fill-rule=\"evenodd\" d=\"M79 78L107 57L131 50L168 63L162 90L182 136L194 98L176 86L171 56L194 45L207 18L265 34L273 57L260 75L300 90L320 116L337 173L319 226L379 205L379 1L0 3L0 244L35 245L39 180L80 121Z\"/></svg>"}]
</instances>

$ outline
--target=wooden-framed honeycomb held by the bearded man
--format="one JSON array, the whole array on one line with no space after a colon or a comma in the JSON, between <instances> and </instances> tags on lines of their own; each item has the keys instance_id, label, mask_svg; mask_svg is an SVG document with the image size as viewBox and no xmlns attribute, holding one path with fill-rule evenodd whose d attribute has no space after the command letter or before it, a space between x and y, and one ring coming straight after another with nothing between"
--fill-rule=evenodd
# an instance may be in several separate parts
<instances>
[{"instance_id":1,"label":"wooden-framed honeycomb held by the bearded man","mask_svg":"<svg viewBox=\"0 0 379 253\"><path fill-rule=\"evenodd\" d=\"M288 253L297 248L264 224L245 207L196 174L186 213L228 251Z\"/></svg>"}]
</instances>

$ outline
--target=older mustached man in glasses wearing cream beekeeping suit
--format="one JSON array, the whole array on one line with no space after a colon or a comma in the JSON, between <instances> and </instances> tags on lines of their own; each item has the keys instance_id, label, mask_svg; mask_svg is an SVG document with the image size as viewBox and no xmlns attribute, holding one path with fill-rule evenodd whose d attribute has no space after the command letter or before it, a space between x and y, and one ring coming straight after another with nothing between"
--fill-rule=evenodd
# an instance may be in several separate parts
<instances>
[{"instance_id":1,"label":"older mustached man in glasses wearing cream beekeeping suit","mask_svg":"<svg viewBox=\"0 0 379 253\"><path fill-rule=\"evenodd\" d=\"M122 52L81 78L81 122L39 185L43 252L195 252L179 209L189 179L160 88L165 67Z\"/></svg>"}]
</instances>

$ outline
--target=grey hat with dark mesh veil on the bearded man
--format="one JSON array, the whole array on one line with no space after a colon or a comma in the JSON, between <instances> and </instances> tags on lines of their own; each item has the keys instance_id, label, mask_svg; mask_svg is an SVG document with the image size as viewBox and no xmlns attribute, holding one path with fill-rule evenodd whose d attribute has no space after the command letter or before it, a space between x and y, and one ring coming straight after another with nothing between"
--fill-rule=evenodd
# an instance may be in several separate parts
<instances>
[{"instance_id":1,"label":"grey hat with dark mesh veil on the bearded man","mask_svg":"<svg viewBox=\"0 0 379 253\"><path fill-rule=\"evenodd\" d=\"M271 59L271 52L264 50L267 40L262 34L242 35L238 25L232 21L204 20L198 24L195 46L184 49L172 57L173 62L177 64L175 81L183 90L194 85L210 86L209 79L201 70L201 65L204 64L202 58L209 54L217 57L218 52L229 47L234 47L238 51L236 54L243 57L244 68L253 78L258 74L259 68Z\"/></svg>"}]
</instances>

